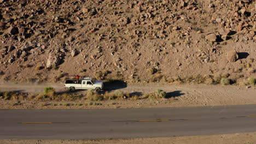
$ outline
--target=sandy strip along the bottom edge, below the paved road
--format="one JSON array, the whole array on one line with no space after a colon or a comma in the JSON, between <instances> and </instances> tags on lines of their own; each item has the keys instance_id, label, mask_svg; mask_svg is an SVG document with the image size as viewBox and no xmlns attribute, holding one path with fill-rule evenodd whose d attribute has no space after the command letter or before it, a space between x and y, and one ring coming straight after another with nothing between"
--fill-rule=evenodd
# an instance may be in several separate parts
<instances>
[{"instance_id":1,"label":"sandy strip along the bottom edge, below the paved road","mask_svg":"<svg viewBox=\"0 0 256 144\"><path fill-rule=\"evenodd\" d=\"M225 135L206 135L206 136L177 136L177 137L157 137L157 138L147 138L147 139L116 139L116 140L0 140L0 143L14 143L14 144L130 144L130 143L148 143L148 144L160 144L160 143L170 143L170 144L198 144L198 143L208 143L208 144L219 144L219 143L256 143L256 133L243 133L243 134L225 134Z\"/></svg>"}]
</instances>

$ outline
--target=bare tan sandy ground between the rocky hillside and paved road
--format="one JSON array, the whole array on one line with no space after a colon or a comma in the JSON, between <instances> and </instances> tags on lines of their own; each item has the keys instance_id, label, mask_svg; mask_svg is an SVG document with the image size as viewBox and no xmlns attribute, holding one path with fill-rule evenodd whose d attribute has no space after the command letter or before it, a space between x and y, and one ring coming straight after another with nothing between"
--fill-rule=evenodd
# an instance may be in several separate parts
<instances>
[{"instance_id":1,"label":"bare tan sandy ground between the rocky hillside and paved road","mask_svg":"<svg viewBox=\"0 0 256 144\"><path fill-rule=\"evenodd\" d=\"M15 87L16 86L16 87ZM11 91L43 91L46 85L11 85ZM63 92L61 84L52 84L56 91ZM4 88L5 87L5 88ZM0 91L6 91L5 85L0 85ZM36 101L21 100L18 105L12 105L16 100L1 100L1 109L127 109L141 107L185 107L185 106L217 106L217 105L248 105L256 104L256 88L245 88L237 86L214 86L214 85L157 85L129 84L119 91L131 94L143 94L164 89L170 98L167 99L119 99L103 101ZM31 93L31 92L30 92ZM79 91L78 94L86 94ZM99 105L88 105L88 103ZM65 106L63 106L65 105Z\"/></svg>"}]
</instances>

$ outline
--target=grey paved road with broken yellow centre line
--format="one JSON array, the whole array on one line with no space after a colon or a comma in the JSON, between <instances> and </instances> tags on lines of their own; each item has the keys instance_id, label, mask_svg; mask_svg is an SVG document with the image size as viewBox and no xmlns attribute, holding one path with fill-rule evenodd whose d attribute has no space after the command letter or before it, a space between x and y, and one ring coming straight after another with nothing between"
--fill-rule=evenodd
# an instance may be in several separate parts
<instances>
[{"instance_id":1,"label":"grey paved road with broken yellow centre line","mask_svg":"<svg viewBox=\"0 0 256 144\"><path fill-rule=\"evenodd\" d=\"M114 139L256 131L256 105L0 110L0 139Z\"/></svg>"}]
</instances>

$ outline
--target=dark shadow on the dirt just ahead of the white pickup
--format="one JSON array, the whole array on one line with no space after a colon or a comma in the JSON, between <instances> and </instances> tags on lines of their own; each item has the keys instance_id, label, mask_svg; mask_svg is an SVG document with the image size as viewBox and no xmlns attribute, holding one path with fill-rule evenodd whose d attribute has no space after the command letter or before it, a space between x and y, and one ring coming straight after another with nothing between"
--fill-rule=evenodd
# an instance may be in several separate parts
<instances>
[{"instance_id":1,"label":"dark shadow on the dirt just ahead of the white pickup","mask_svg":"<svg viewBox=\"0 0 256 144\"><path fill-rule=\"evenodd\" d=\"M127 83L122 80L112 80L109 82L104 82L104 90L105 91L114 91L117 89L122 89L127 87Z\"/></svg>"}]
</instances>

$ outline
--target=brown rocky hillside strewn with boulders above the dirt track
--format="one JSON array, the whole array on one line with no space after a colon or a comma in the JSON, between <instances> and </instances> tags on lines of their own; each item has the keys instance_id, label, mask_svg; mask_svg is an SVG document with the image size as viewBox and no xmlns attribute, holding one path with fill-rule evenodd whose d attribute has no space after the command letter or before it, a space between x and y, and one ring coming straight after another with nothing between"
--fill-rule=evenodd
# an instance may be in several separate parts
<instances>
[{"instance_id":1,"label":"brown rocky hillside strewn with boulders above the dirt track","mask_svg":"<svg viewBox=\"0 0 256 144\"><path fill-rule=\"evenodd\" d=\"M244 82L255 0L0 0L0 79Z\"/></svg>"}]
</instances>

